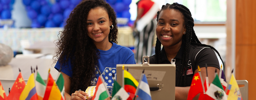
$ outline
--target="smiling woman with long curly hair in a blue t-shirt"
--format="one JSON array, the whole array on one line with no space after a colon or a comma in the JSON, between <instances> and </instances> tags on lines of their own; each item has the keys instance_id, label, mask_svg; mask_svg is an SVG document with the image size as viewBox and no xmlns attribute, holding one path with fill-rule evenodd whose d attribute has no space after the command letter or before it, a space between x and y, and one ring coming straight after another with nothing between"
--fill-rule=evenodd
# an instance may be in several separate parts
<instances>
[{"instance_id":1,"label":"smiling woman with long curly hair in a blue t-shirt","mask_svg":"<svg viewBox=\"0 0 256 100\"><path fill-rule=\"evenodd\" d=\"M116 44L117 34L115 12L104 0L84 0L74 8L60 33L55 59L65 80L66 99L86 99L84 91L96 85L98 69L111 94L116 65L136 64L134 53Z\"/></svg>"}]
</instances>

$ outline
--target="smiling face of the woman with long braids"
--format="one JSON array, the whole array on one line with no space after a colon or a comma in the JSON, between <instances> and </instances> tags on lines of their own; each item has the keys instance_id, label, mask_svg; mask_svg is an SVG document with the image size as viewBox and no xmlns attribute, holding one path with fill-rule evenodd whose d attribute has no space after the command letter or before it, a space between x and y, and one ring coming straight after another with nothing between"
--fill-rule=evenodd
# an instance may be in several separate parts
<instances>
[{"instance_id":1,"label":"smiling face of the woman with long braids","mask_svg":"<svg viewBox=\"0 0 256 100\"><path fill-rule=\"evenodd\" d=\"M182 44L182 36L186 32L182 13L176 9L162 10L155 29L157 38L164 47Z\"/></svg>"}]
</instances>

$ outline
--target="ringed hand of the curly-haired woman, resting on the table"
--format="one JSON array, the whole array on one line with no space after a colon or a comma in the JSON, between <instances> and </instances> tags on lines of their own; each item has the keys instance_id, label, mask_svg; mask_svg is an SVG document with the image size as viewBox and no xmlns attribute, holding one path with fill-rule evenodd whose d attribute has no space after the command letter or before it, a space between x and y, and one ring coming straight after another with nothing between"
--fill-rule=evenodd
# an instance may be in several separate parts
<instances>
[{"instance_id":1,"label":"ringed hand of the curly-haired woman, resting on the table","mask_svg":"<svg viewBox=\"0 0 256 100\"><path fill-rule=\"evenodd\" d=\"M70 100L86 100L86 96L89 96L89 94L87 94L85 91L75 91L75 93L71 94ZM92 96L90 99L89 98L90 97L88 97L88 100L92 99Z\"/></svg>"}]
</instances>

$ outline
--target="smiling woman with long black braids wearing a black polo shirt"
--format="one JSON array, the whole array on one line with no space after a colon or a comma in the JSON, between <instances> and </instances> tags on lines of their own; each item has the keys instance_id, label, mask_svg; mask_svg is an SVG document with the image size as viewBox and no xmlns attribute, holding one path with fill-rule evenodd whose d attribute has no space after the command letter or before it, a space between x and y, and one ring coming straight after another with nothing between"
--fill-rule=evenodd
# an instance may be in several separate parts
<instances>
[{"instance_id":1,"label":"smiling woman with long black braids wearing a black polo shirt","mask_svg":"<svg viewBox=\"0 0 256 100\"><path fill-rule=\"evenodd\" d=\"M187 7L178 3L167 3L157 14L157 43L155 55L150 57L150 64L175 64L175 99L186 100L193 75L198 72L198 65L202 67L203 82L206 77L206 64L209 66L209 83L214 80L215 69L219 73L219 62L214 51L218 56L219 53L215 48L201 44L198 40L193 29L194 20Z\"/></svg>"}]
</instances>

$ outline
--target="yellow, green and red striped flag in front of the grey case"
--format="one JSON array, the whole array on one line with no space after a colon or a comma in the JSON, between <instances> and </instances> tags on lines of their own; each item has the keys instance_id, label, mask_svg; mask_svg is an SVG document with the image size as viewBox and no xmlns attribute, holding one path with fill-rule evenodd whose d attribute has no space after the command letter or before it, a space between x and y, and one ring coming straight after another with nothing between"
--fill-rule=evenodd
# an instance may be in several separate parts
<instances>
[{"instance_id":1,"label":"yellow, green and red striped flag in front of the grey case","mask_svg":"<svg viewBox=\"0 0 256 100\"><path fill-rule=\"evenodd\" d=\"M125 91L130 93L130 97L135 97L135 92L138 86L138 81L135 80L135 78L126 70L124 70L124 85L125 85Z\"/></svg>"}]
</instances>

